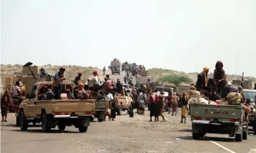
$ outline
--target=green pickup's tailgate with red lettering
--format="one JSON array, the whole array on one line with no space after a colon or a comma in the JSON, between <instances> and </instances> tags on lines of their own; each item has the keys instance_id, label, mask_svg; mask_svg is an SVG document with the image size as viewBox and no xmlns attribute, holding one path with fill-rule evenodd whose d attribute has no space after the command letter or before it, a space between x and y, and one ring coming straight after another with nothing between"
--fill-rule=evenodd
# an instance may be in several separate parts
<instances>
[{"instance_id":1,"label":"green pickup's tailgate with red lettering","mask_svg":"<svg viewBox=\"0 0 256 153\"><path fill-rule=\"evenodd\" d=\"M205 120L218 119L241 119L243 117L243 106L239 105L200 105L190 106L191 120L201 117ZM207 120L207 119L206 119Z\"/></svg>"}]
</instances>

